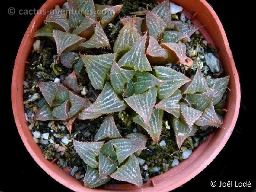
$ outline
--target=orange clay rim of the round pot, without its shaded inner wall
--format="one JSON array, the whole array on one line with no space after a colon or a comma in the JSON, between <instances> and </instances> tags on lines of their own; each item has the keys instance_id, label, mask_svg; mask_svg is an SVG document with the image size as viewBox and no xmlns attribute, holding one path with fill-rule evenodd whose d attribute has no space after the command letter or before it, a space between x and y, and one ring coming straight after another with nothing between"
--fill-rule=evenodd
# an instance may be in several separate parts
<instances>
[{"instance_id":1,"label":"orange clay rim of the round pot, without its shaded inner wall","mask_svg":"<svg viewBox=\"0 0 256 192\"><path fill-rule=\"evenodd\" d=\"M173 0L173 2L176 2L176 3L178 1L182 1L182 0ZM64 0L47 0L46 3L44 3L44 5L41 7L41 9L49 10L49 9L53 8L53 5L62 4L63 2L64 2ZM206 8L209 11L209 14L212 15L212 17L214 17L215 22L217 23L217 26L220 30L220 34L223 38L225 51L227 53L227 57L228 57L228 60L230 63L229 67L231 67L231 71L233 73L232 75L234 76L233 83L234 83L234 87L235 87L235 93L232 93L232 94L236 94L236 96L235 96L235 103L234 103L235 106L233 107L234 111L230 112L230 113L232 113L232 119L230 120L231 121L230 125L228 127L224 128L225 135L222 135L222 136L218 135L220 131L215 132L212 135L210 135L210 137L207 141L205 141L203 144L198 146L198 148L196 150L193 151L190 158L188 158L187 160L183 160L178 166L175 166L174 168L165 172L164 174L153 177L148 182L146 182L143 185L143 191L162 191L162 190L170 191L170 190L173 190L173 189L183 185L184 183L189 181L191 178L193 178L194 176L199 174L199 172L201 172L204 168L206 168L206 166L209 165L210 162L212 162L213 159L222 150L225 143L229 139L229 137L234 129L236 120L238 118L240 97L241 97L240 84L239 84L238 73L235 68L233 56L232 56L231 50L229 48L228 39L226 38L226 34L223 29L223 26L217 16L217 14L212 9L212 7L210 7L210 5L205 0L198 0L198 2L200 2L202 4L202 6L204 6L204 8ZM183 0L183 4L185 4L184 0ZM68 174L64 173L64 171L62 169L60 169L57 165L50 164L50 162L43 157L42 152L41 152L41 154L39 153L39 151L41 149L39 148L39 146L36 143L34 143L34 141L32 139L31 132L30 132L30 130L28 130L28 126L25 121L26 119L25 119L25 115L24 115L23 97L22 97L22 95L23 95L23 80L22 79L24 79L24 74L20 73L20 70L25 71L25 69L21 69L21 66L25 65L25 64L23 64L23 62L26 61L24 59L27 58L27 56L30 53L31 47L32 47L31 34L33 34L33 32L39 27L36 22L38 22L38 21L40 22L41 20L42 20L42 15L36 15L33 18L33 20L31 21L30 26L28 27L28 29L22 39L16 60L15 60L14 72L13 72L13 76L12 76L12 109L14 112L14 118L15 118L18 132L21 136L21 139L22 139L24 145L26 146L28 152L31 154L33 159L37 162L37 164L40 167L42 167L42 169L44 171L47 172L47 174L49 174L51 177L53 177L56 181L58 181L62 185L66 186L74 191L106 191L106 190L102 190L102 189L85 188L82 186L82 183L80 181L78 181L75 178L72 178ZM206 36L207 35L208 34L206 34ZM207 37L205 37L205 38L207 38ZM218 140L215 141L216 139L218 139ZM208 158L202 159L201 156L198 156L198 155L201 155L201 153L204 152L204 150L207 150L207 148L210 148L211 142L215 142L215 144L218 144L218 145L215 146L214 149L212 149L212 151L211 151L212 153L209 154ZM198 159L199 159L200 165L197 164L196 168L191 167L191 164L193 164ZM187 171L186 175L185 175L184 170L187 169L188 167L190 167L190 169L192 171L191 170ZM169 177L172 175L178 176L179 180L176 179L177 181L175 183L172 183L172 181L170 181L170 179L167 178L167 176ZM110 189L110 190L141 191L140 188L136 188L130 184L115 185L115 186L113 186L113 188L108 187L108 189Z\"/></svg>"}]
</instances>

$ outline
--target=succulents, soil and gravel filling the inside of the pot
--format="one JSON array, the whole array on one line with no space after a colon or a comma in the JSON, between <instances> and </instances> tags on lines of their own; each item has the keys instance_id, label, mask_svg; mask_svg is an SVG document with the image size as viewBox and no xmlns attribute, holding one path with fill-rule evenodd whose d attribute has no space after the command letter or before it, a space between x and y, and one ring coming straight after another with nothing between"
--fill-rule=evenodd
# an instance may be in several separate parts
<instances>
[{"instance_id":1,"label":"succulents, soil and gravel filling the inside of the pot","mask_svg":"<svg viewBox=\"0 0 256 192\"><path fill-rule=\"evenodd\" d=\"M73 0L32 34L28 128L85 187L141 187L222 127L229 76L181 11L169 1Z\"/></svg>"}]
</instances>

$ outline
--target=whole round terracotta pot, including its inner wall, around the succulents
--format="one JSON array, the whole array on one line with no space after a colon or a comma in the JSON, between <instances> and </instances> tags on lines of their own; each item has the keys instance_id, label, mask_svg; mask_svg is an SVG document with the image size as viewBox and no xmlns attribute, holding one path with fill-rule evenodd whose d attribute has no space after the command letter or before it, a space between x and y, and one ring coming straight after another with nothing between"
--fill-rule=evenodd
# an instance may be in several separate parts
<instances>
[{"instance_id":1,"label":"whole round terracotta pot, including its inner wall, around the succulents","mask_svg":"<svg viewBox=\"0 0 256 192\"><path fill-rule=\"evenodd\" d=\"M50 11L55 5L62 5L66 0L48 0L41 7L42 10ZM219 154L232 133L236 120L238 118L240 106L240 84L238 73L232 57L229 43L225 35L220 20L212 7L205 0L193 0L193 3L187 0L172 0L181 5L186 11L188 18L194 15L193 23L198 26L204 26L200 29L204 38L219 48L219 57L222 60L226 75L230 75L230 92L228 93L226 109L228 112L224 116L223 128L218 129L210 135L209 139L197 147L192 155L182 161L178 166L165 172L160 176L151 178L143 185L143 191L170 191L183 185L199 174L213 159ZM106 191L106 189L89 189L82 186L82 182L68 175L56 164L51 164L42 154L38 144L33 141L31 131L28 129L23 106L23 80L25 76L25 65L28 55L31 52L34 39L31 35L42 26L46 15L36 15L28 27L15 60L14 72L12 76L12 109L18 132L25 144L28 152L51 177L62 185L74 191ZM201 24L200 24L201 23ZM130 190L141 192L142 189L133 185L111 185L109 190Z\"/></svg>"}]
</instances>

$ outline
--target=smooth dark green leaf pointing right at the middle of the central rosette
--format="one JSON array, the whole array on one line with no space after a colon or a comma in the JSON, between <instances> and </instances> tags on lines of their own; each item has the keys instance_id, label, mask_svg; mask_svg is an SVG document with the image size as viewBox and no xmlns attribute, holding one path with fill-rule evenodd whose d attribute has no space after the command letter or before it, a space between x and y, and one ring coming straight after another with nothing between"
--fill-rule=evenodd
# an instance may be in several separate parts
<instances>
[{"instance_id":1,"label":"smooth dark green leaf pointing right at the middle of the central rosette","mask_svg":"<svg viewBox=\"0 0 256 192\"><path fill-rule=\"evenodd\" d=\"M154 75L145 71L138 72L135 76L137 77L137 82L134 85L135 94L141 94L151 87L160 85L162 83L162 81L160 81Z\"/></svg>"}]
</instances>

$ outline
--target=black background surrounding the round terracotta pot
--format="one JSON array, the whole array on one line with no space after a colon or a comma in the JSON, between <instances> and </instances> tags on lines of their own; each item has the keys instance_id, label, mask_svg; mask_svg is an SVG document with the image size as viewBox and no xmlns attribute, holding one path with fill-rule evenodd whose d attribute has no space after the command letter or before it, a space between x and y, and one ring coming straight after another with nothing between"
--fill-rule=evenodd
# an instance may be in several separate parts
<instances>
[{"instance_id":1,"label":"black background surrounding the round terracotta pot","mask_svg":"<svg viewBox=\"0 0 256 192\"><path fill-rule=\"evenodd\" d=\"M4 67L1 70L1 85L4 85L1 91L1 97L3 98L1 113L3 113L2 123L4 125L0 128L0 176L2 177L0 179L0 191L4 192L16 191L16 188L28 192L70 191L47 175L28 154L18 135L11 110L12 68L23 34L33 16L18 15L17 13L8 15L7 9L9 7L15 7L16 10L39 9L44 1L5 1L5 6L0 5L0 66ZM192 0L189 1L193 2ZM252 105L255 102L255 96L252 94L255 84L253 80L250 80L250 77L255 76L255 34L253 34L255 32L252 30L255 19L249 15L250 7L253 7L253 5L250 6L246 0L240 3L230 1L231 4L223 4L224 1L219 0L207 1L213 6L223 23L236 62L236 68L239 71L242 87L240 115L234 132L217 158L199 175L174 191L252 192L256 190L256 160L253 157L256 151L256 127L253 117L249 118L250 114L252 116ZM248 21L251 23L246 23ZM6 74L8 74L7 80ZM247 85L250 85L250 88ZM7 117L9 117L8 120ZM210 187L210 181L212 180L251 181L252 187L212 188ZM7 183L10 183L10 185Z\"/></svg>"}]
</instances>

